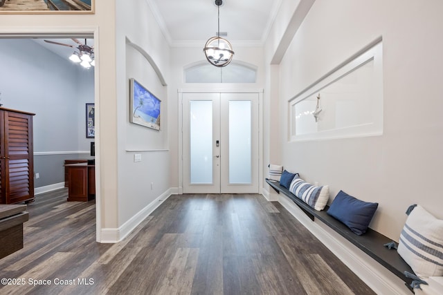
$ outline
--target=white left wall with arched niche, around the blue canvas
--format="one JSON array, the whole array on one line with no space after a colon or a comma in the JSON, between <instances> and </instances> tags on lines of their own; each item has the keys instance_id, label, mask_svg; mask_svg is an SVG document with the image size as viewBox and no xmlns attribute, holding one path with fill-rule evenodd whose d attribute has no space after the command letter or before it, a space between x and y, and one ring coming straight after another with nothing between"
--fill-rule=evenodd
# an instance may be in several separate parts
<instances>
[{"instance_id":1,"label":"white left wall with arched niche, around the blue canvas","mask_svg":"<svg viewBox=\"0 0 443 295\"><path fill-rule=\"evenodd\" d=\"M131 227L143 220L170 194L168 142L169 46L145 0L117 1L117 122L118 122L118 225ZM127 39L134 46L127 43ZM151 64L153 63L153 64ZM158 68L158 71L156 71ZM129 122L129 79L135 78L161 99L161 130ZM134 162L140 153L142 161ZM142 214L142 215L143 215Z\"/></svg>"}]
</instances>

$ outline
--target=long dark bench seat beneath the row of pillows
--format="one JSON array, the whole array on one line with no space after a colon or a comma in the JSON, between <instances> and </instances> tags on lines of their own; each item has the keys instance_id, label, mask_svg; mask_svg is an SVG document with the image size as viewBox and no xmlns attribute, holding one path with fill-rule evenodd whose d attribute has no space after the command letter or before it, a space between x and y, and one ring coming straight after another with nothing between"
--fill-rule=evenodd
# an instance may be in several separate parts
<instances>
[{"instance_id":1,"label":"long dark bench seat beneath the row of pillows","mask_svg":"<svg viewBox=\"0 0 443 295\"><path fill-rule=\"evenodd\" d=\"M353 245L361 249L365 254L368 254L370 257L374 258L379 262L383 267L386 267L392 274L404 280L405 285L413 291L410 287L412 283L411 278L406 278L404 272L410 272L410 274L414 274L413 270L409 267L409 265L399 256L397 251L393 249L388 249L384 245L388 242L392 242L390 238L387 236L383 236L377 231L368 228L365 234L358 236L354 234L346 225L344 225L341 221L336 220L334 217L330 216L326 213L329 206L326 206L323 211L316 211L314 208L309 207L308 204L297 198L285 187L280 185L280 182L268 180L266 182L277 192L282 193L284 196L287 196L293 202L297 204L303 212L311 218L311 220L315 220L318 218L321 222L325 223L328 227L336 231L338 234L343 236L346 240L352 242Z\"/></svg>"}]
</instances>

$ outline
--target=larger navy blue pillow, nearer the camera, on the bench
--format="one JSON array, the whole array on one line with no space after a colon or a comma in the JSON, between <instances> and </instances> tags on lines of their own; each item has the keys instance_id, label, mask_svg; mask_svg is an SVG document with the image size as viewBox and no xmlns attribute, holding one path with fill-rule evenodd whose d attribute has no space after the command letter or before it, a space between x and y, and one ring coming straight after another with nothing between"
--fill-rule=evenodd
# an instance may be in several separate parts
<instances>
[{"instance_id":1,"label":"larger navy blue pillow, nearer the camera, on the bench","mask_svg":"<svg viewBox=\"0 0 443 295\"><path fill-rule=\"evenodd\" d=\"M327 210L359 236L366 232L379 203L363 202L340 191Z\"/></svg>"}]
</instances>

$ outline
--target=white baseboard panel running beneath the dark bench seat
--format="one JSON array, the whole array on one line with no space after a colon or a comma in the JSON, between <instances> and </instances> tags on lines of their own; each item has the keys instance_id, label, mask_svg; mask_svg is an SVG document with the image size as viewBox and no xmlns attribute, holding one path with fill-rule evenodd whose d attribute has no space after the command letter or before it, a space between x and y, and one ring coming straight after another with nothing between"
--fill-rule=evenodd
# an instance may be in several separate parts
<instances>
[{"instance_id":1,"label":"white baseboard panel running beneath the dark bench seat","mask_svg":"<svg viewBox=\"0 0 443 295\"><path fill-rule=\"evenodd\" d=\"M279 195L278 202L374 292L377 294L410 294L403 280L389 272L361 249L352 245L351 242L336 234L335 231L331 231L323 222L312 222L289 198Z\"/></svg>"}]
</instances>

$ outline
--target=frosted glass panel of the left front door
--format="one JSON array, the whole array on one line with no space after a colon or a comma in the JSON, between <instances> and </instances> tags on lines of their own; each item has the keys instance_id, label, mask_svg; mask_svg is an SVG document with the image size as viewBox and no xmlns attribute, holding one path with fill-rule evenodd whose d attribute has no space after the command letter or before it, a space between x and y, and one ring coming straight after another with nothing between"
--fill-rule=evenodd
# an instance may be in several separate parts
<instances>
[{"instance_id":1,"label":"frosted glass panel of the left front door","mask_svg":"<svg viewBox=\"0 0 443 295\"><path fill-rule=\"evenodd\" d=\"M213 102L190 102L190 183L213 183Z\"/></svg>"}]
</instances>

